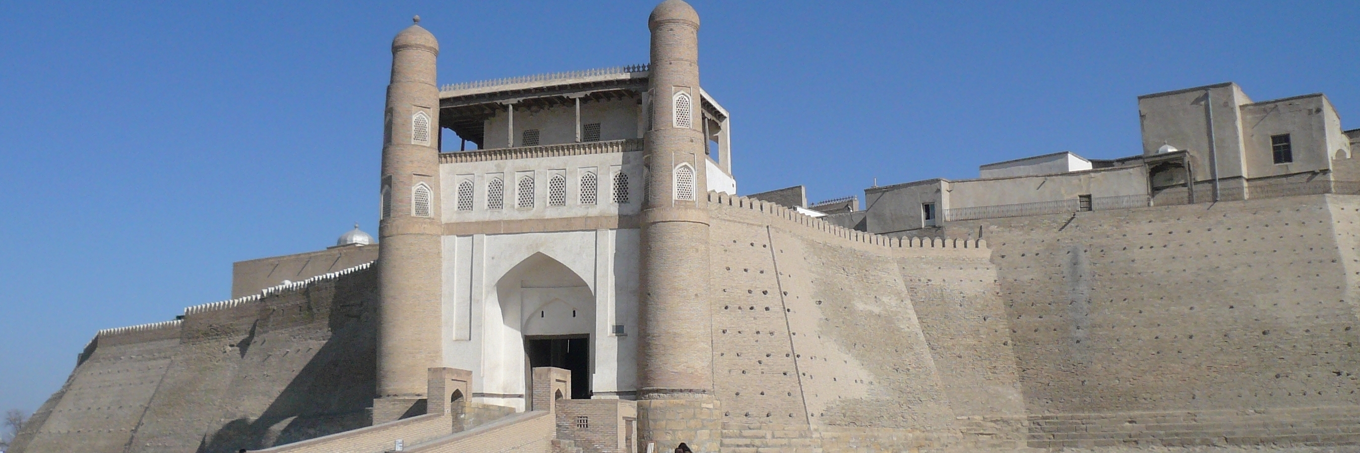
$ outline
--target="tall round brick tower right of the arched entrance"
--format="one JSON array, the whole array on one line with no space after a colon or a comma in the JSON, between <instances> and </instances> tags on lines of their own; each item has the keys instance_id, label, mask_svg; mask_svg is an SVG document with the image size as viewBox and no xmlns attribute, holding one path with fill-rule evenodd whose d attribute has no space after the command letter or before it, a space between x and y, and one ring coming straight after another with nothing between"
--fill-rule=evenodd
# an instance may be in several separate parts
<instances>
[{"instance_id":1,"label":"tall round brick tower right of the arched entrance","mask_svg":"<svg viewBox=\"0 0 1360 453\"><path fill-rule=\"evenodd\" d=\"M651 125L645 137L639 434L668 443L662 450L687 442L696 452L715 452L721 423L713 396L699 15L688 3L666 0L651 11L647 27ZM683 418L699 423L666 423Z\"/></svg>"}]
</instances>

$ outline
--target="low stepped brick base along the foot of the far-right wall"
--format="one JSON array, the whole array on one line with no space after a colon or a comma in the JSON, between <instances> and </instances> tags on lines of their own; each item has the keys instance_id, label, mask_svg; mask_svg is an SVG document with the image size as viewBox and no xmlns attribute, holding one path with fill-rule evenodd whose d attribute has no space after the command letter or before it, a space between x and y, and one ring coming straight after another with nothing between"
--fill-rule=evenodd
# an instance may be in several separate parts
<instances>
[{"instance_id":1,"label":"low stepped brick base along the foot of the far-right wall","mask_svg":"<svg viewBox=\"0 0 1360 453\"><path fill-rule=\"evenodd\" d=\"M1360 445L1360 407L1030 418L1031 448Z\"/></svg>"}]
</instances>

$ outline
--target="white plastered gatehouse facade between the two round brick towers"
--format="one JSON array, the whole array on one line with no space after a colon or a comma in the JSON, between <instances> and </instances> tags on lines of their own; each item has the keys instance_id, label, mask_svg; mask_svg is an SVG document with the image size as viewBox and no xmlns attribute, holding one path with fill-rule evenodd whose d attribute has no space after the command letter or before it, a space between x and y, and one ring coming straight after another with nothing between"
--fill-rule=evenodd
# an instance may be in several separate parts
<instances>
[{"instance_id":1,"label":"white plastered gatehouse facade between the two round brick towers","mask_svg":"<svg viewBox=\"0 0 1360 453\"><path fill-rule=\"evenodd\" d=\"M642 207L642 152L506 159L441 166L443 222L536 222L631 216ZM581 175L597 174L596 204L581 203ZM630 203L612 197L615 173L628 174ZM488 209L487 182L532 174L536 203L517 208L511 185L502 209ZM567 177L566 205L548 205L554 174ZM457 211L457 186L473 182L473 209ZM627 223L627 222L623 222ZM525 337L590 339L596 399L636 390L639 230L632 227L443 237L445 366L473 371L473 401L525 404ZM622 325L623 335L615 333Z\"/></svg>"}]
</instances>

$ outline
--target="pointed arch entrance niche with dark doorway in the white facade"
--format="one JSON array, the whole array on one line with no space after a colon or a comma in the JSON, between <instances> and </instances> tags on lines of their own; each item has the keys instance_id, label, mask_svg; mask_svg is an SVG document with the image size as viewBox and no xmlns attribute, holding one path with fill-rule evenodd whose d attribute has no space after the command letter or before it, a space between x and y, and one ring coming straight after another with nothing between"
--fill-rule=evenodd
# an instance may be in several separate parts
<instances>
[{"instance_id":1,"label":"pointed arch entrance niche with dark doorway in the white facade","mask_svg":"<svg viewBox=\"0 0 1360 453\"><path fill-rule=\"evenodd\" d=\"M590 335L596 324L594 292L560 261L529 256L496 283L502 321L510 336L506 348L524 362L522 389L532 401L533 367L571 370L571 399L590 397L594 369ZM520 350L520 351L513 351Z\"/></svg>"}]
</instances>

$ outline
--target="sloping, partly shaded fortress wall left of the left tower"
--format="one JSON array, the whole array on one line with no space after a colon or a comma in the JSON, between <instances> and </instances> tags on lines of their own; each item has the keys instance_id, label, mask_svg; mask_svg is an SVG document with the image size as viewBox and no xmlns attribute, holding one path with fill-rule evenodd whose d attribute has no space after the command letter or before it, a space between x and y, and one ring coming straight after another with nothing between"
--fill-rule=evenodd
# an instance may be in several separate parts
<instances>
[{"instance_id":1,"label":"sloping, partly shaded fortress wall left of the left tower","mask_svg":"<svg viewBox=\"0 0 1360 453\"><path fill-rule=\"evenodd\" d=\"M370 423L367 264L101 331L12 452L237 452Z\"/></svg>"}]
</instances>

